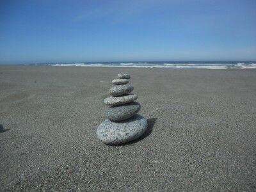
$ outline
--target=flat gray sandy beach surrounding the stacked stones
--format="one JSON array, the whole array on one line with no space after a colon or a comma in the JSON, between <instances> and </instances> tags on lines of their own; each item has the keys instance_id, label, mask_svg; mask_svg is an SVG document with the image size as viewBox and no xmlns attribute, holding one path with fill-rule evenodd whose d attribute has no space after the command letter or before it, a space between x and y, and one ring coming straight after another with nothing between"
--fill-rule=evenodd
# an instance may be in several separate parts
<instances>
[{"instance_id":1,"label":"flat gray sandy beach surrounding the stacked stones","mask_svg":"<svg viewBox=\"0 0 256 192\"><path fill-rule=\"evenodd\" d=\"M149 127L111 147L95 131L120 72ZM1 66L0 191L255 191L255 117L256 70Z\"/></svg>"}]
</instances>

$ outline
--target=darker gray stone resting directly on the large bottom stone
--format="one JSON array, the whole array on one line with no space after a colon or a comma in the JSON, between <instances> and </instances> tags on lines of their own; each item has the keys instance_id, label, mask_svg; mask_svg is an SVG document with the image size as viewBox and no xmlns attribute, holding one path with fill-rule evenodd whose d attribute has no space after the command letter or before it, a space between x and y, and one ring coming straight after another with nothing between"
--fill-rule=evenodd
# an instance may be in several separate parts
<instances>
[{"instance_id":1,"label":"darker gray stone resting directly on the large bottom stone","mask_svg":"<svg viewBox=\"0 0 256 192\"><path fill-rule=\"evenodd\" d=\"M140 104L138 102L129 102L122 106L113 106L108 108L106 111L106 118L111 121L126 120L127 118L134 116L139 111Z\"/></svg>"}]
</instances>

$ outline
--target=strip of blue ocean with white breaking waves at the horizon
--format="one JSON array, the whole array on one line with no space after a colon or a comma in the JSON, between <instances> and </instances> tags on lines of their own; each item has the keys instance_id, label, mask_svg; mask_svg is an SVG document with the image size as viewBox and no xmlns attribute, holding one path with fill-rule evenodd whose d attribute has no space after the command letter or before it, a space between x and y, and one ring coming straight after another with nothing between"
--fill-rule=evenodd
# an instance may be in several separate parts
<instances>
[{"instance_id":1,"label":"strip of blue ocean with white breaking waves at the horizon","mask_svg":"<svg viewBox=\"0 0 256 192\"><path fill-rule=\"evenodd\" d=\"M207 68L207 69L250 69L256 61L134 61L97 63L47 63L38 65L76 67L138 67L138 68Z\"/></svg>"}]
</instances>

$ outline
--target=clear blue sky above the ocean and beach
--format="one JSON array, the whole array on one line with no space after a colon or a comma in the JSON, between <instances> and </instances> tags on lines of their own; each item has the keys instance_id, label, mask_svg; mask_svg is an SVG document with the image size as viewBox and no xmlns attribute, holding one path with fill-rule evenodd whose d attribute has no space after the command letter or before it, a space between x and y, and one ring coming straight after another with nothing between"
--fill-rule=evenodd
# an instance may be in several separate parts
<instances>
[{"instance_id":1,"label":"clear blue sky above the ocean and beach","mask_svg":"<svg viewBox=\"0 0 256 192\"><path fill-rule=\"evenodd\" d=\"M0 0L0 63L256 60L255 0Z\"/></svg>"}]
</instances>

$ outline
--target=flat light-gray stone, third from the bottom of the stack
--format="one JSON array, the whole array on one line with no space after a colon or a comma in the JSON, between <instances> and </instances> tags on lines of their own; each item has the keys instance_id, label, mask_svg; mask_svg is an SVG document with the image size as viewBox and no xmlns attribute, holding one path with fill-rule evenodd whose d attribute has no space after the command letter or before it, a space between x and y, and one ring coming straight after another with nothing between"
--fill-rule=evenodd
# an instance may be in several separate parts
<instances>
[{"instance_id":1,"label":"flat light-gray stone, third from the bottom of the stack","mask_svg":"<svg viewBox=\"0 0 256 192\"><path fill-rule=\"evenodd\" d=\"M134 100L136 100L138 98L138 95L135 94L131 94L131 95L124 95L121 97L107 97L106 99L104 99L104 104L108 105L108 106L118 106L121 104L125 104L128 102L132 102Z\"/></svg>"}]
</instances>

